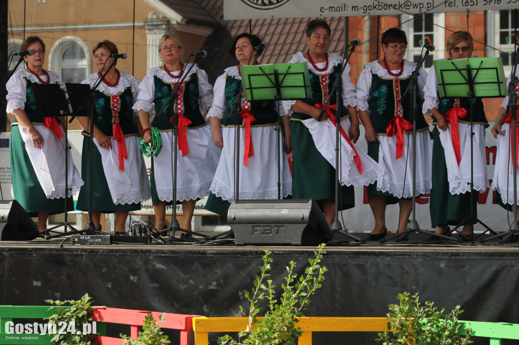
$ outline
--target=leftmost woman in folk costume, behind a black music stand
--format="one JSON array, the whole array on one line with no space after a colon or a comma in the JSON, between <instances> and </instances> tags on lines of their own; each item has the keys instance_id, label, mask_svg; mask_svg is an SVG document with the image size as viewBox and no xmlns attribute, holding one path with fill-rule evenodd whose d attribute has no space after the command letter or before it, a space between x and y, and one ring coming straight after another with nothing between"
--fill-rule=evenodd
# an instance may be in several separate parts
<instances>
[{"instance_id":1,"label":"leftmost woman in folk costume, behind a black music stand","mask_svg":"<svg viewBox=\"0 0 519 345\"><path fill-rule=\"evenodd\" d=\"M38 216L38 230L44 231L49 214L63 212L63 198L75 194L83 180L68 151L69 185L65 186L67 143L59 124L65 119L44 118L37 112L33 85L61 83L58 74L43 69L45 44L39 37L30 36L22 42L20 51L32 54L23 57L25 69L17 70L6 84L7 113L15 116L9 146L12 189L20 205L33 217ZM72 198L66 208L74 210Z\"/></svg>"}]
</instances>

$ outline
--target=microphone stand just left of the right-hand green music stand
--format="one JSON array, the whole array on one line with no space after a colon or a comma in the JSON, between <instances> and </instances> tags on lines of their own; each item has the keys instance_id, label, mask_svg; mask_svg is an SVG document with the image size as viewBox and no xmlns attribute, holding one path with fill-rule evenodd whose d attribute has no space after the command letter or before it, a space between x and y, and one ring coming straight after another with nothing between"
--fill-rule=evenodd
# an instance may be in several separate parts
<instances>
[{"instance_id":1,"label":"microphone stand just left of the right-hand green music stand","mask_svg":"<svg viewBox=\"0 0 519 345\"><path fill-rule=\"evenodd\" d=\"M405 90L405 92L402 95L402 98L407 97L407 94L411 91L411 88L412 88L413 100L412 100L412 104L411 104L412 105L411 114L413 117L413 191L412 191L412 193L413 193L412 207L413 208L412 208L412 212L411 212L411 220L409 220L409 227L407 228L406 231L382 238L382 239L380 239L380 243L384 243L395 237L397 238L397 242L399 242L402 237L405 238L405 236L407 236L409 233L412 233L412 232L414 232L416 234L418 234L418 233L429 234L428 231L420 229L420 226L418 225L418 222L416 221L416 117L417 117L416 94L418 93L418 75L420 74L420 68L428 55L429 55L429 49L426 49L424 57L421 57L421 55L420 55L420 60L418 61L416 69L413 72L413 74L411 75L411 82L409 82L409 85L407 85L407 89ZM409 144L409 141L407 141L407 144ZM407 164L406 164L406 166L407 166ZM404 189L405 189L405 180L404 180ZM402 194L402 196L403 196L403 194ZM443 237L445 237L447 239L451 239L450 237L447 237L447 236L443 236Z\"/></svg>"}]
</instances>

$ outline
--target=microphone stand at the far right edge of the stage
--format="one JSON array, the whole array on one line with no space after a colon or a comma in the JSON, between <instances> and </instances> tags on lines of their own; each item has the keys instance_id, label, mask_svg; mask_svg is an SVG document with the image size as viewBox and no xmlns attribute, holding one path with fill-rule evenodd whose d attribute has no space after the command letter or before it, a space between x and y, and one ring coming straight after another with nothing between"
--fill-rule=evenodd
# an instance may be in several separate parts
<instances>
[{"instance_id":1,"label":"microphone stand at the far right edge of the stage","mask_svg":"<svg viewBox=\"0 0 519 345\"><path fill-rule=\"evenodd\" d=\"M516 45L517 45L517 43L516 43ZM515 74L517 71L517 64L519 64L519 48L517 48L514 51L512 61L513 61L513 65L512 65L512 72L511 72L511 76L510 76L510 84L509 84L509 92L508 92L509 97L510 97L508 99L508 107L510 108L509 131L511 131L510 132L511 137L515 138L516 132L517 132L517 126L516 126L517 95L515 93L515 84L517 83L517 79L516 79L517 77L515 76ZM507 107L507 109L508 109L508 107ZM508 111L507 111L507 113L508 113ZM486 241L489 241L491 239L494 239L497 237L502 237L503 235L506 235L506 236L504 236L504 238L501 238L501 240L498 242L500 245L502 245L514 234L519 233L519 224L517 223L517 165L513 163L513 162L517 162L517 143L515 142L515 140L512 140L511 149L512 149L512 174L513 174L513 188L514 188L514 193L513 193L514 203L512 205L512 213L513 213L514 220L510 224L510 228L507 232L505 232L504 234L501 233L501 234L498 234L495 236L491 236L487 239L482 239L481 243L485 243ZM507 179L507 183L508 183L508 179ZM501 197L501 199L502 199L502 197Z\"/></svg>"}]
</instances>

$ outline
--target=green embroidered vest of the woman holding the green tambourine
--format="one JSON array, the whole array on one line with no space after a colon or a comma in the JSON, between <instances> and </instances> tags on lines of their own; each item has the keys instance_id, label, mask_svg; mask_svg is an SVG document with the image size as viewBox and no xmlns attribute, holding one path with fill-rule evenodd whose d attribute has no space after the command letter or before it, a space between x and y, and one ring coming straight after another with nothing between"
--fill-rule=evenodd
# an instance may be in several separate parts
<instances>
[{"instance_id":1,"label":"green embroidered vest of the woman holding the green tambourine","mask_svg":"<svg viewBox=\"0 0 519 345\"><path fill-rule=\"evenodd\" d=\"M155 83L155 113L159 113L162 107L167 103L174 88L173 83L165 82L157 76L153 77ZM184 108L184 116L191 121L191 124L186 128L196 128L206 124L206 119L203 118L200 112L200 104L198 98L198 75L191 74L184 80L184 88L182 91L182 105ZM171 117L174 114L174 108L177 104L177 99L171 99L160 118L155 123L155 126L161 131L171 130Z\"/></svg>"}]
</instances>

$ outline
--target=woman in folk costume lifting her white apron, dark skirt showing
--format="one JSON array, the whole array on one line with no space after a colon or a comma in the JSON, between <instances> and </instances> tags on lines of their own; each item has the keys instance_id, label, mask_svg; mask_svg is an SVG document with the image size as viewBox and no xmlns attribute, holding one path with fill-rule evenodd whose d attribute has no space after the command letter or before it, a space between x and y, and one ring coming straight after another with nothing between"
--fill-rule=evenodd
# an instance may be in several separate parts
<instances>
[{"instance_id":1,"label":"woman in folk costume lifting her white apron, dark skirt showing","mask_svg":"<svg viewBox=\"0 0 519 345\"><path fill-rule=\"evenodd\" d=\"M344 61L328 53L330 26L322 19L315 19L306 28L306 52L292 56L290 63L306 63L310 71L312 98L285 101L284 107L291 114L293 147L294 198L313 198L318 201L329 226L335 218L335 109L341 110L340 142L342 166L340 166L340 210L355 205L353 186L368 185L376 181L383 169L354 142L359 138L359 118L356 111L355 85L351 83L350 66L342 74L342 104L336 104L336 96L318 121L321 109L328 100L334 81L339 77Z\"/></svg>"}]
</instances>

